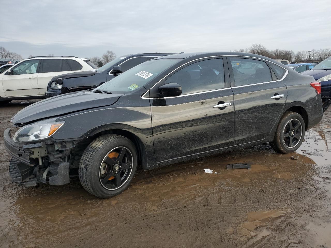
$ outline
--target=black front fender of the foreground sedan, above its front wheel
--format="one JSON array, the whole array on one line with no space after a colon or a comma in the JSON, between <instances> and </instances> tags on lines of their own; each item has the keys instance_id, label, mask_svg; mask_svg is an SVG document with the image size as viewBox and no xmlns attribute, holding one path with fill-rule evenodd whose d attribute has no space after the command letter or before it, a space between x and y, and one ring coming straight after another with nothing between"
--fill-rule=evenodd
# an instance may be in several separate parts
<instances>
[{"instance_id":1,"label":"black front fender of the foreground sedan, above its front wheel","mask_svg":"<svg viewBox=\"0 0 331 248\"><path fill-rule=\"evenodd\" d=\"M111 107L73 113L59 117L65 121L53 139L77 139L93 136L106 130L124 130L135 135L144 145L148 169L157 166L154 156L151 107Z\"/></svg>"}]
</instances>

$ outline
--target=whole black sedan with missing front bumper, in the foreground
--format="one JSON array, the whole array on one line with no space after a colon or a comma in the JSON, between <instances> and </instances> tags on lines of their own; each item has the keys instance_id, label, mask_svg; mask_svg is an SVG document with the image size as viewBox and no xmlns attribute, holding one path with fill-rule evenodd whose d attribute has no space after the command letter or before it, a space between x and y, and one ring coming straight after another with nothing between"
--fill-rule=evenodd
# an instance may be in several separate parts
<instances>
[{"instance_id":1,"label":"whole black sedan with missing front bumper, in the foreground","mask_svg":"<svg viewBox=\"0 0 331 248\"><path fill-rule=\"evenodd\" d=\"M12 180L63 185L79 176L88 192L108 198L129 186L138 165L266 142L291 153L322 119L320 92L311 76L255 54L160 57L19 111L11 121L21 128L4 134Z\"/></svg>"}]
</instances>

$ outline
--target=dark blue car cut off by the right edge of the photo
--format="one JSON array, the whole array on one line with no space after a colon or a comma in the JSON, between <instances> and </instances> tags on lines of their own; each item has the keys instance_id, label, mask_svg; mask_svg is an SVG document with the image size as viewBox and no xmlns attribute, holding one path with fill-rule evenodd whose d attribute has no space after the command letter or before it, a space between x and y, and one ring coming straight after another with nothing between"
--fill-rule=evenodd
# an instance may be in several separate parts
<instances>
[{"instance_id":1,"label":"dark blue car cut off by the right edge of the photo","mask_svg":"<svg viewBox=\"0 0 331 248\"><path fill-rule=\"evenodd\" d=\"M313 76L316 82L321 83L323 111L325 111L331 104L331 57L301 74Z\"/></svg>"}]
</instances>

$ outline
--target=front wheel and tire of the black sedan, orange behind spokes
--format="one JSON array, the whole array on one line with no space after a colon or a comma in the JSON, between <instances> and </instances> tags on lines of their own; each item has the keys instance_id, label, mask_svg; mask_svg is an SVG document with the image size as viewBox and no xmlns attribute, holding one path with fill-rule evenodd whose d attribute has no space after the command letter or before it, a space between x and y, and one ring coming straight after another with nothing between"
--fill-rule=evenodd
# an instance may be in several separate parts
<instances>
[{"instance_id":1,"label":"front wheel and tire of the black sedan, orange behind spokes","mask_svg":"<svg viewBox=\"0 0 331 248\"><path fill-rule=\"evenodd\" d=\"M79 162L79 180L89 193L110 198L130 185L137 170L137 151L126 137L102 135L89 144Z\"/></svg>"}]
</instances>

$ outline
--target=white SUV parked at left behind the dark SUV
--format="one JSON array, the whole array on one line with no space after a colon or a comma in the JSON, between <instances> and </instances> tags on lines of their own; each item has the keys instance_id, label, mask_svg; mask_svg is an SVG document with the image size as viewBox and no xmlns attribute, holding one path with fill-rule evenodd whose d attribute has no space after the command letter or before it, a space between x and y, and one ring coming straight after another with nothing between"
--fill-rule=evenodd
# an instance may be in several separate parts
<instances>
[{"instance_id":1,"label":"white SUV parked at left behind the dark SUV","mask_svg":"<svg viewBox=\"0 0 331 248\"><path fill-rule=\"evenodd\" d=\"M45 98L52 77L97 68L89 59L74 56L40 56L20 61L0 74L0 105L12 100Z\"/></svg>"}]
</instances>

